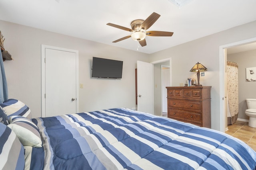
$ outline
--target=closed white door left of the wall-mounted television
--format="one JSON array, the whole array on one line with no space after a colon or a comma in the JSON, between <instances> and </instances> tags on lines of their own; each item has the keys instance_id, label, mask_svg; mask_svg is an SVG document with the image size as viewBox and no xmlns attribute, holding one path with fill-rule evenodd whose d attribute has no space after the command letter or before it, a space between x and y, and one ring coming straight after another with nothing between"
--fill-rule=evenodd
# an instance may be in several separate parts
<instances>
[{"instance_id":1,"label":"closed white door left of the wall-mounted television","mask_svg":"<svg viewBox=\"0 0 256 170\"><path fill-rule=\"evenodd\" d=\"M42 116L43 112L45 117L77 113L78 51L46 47L42 57L45 58Z\"/></svg>"}]
</instances>

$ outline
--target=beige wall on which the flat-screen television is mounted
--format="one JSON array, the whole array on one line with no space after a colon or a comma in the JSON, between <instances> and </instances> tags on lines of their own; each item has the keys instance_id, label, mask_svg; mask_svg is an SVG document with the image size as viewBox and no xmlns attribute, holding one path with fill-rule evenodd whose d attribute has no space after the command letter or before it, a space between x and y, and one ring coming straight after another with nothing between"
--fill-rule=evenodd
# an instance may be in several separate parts
<instances>
[{"instance_id":1,"label":"beige wall on which the flat-screen television is mounted","mask_svg":"<svg viewBox=\"0 0 256 170\"><path fill-rule=\"evenodd\" d=\"M32 117L41 116L41 45L79 51L79 111L136 107L136 61L148 62L148 54L96 43L0 20L4 47L14 61L5 61L9 98L27 104ZM91 78L92 57L124 61L121 80ZM60 61L61 62L61 61Z\"/></svg>"}]
</instances>

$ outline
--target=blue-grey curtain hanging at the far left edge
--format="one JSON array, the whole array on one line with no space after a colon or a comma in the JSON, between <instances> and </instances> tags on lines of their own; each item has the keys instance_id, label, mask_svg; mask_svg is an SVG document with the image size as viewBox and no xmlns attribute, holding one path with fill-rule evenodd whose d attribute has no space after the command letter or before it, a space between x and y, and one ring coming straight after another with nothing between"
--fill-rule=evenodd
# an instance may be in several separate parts
<instances>
[{"instance_id":1,"label":"blue-grey curtain hanging at the far left edge","mask_svg":"<svg viewBox=\"0 0 256 170\"><path fill-rule=\"evenodd\" d=\"M4 71L4 61L0 53L0 103L8 99L8 89Z\"/></svg>"}]
</instances>

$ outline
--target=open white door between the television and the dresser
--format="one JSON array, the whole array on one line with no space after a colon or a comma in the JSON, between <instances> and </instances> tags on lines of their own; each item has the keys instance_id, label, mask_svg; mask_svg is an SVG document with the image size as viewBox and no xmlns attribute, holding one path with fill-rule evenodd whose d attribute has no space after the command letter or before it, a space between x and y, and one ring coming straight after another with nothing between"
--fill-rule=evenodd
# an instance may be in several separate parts
<instances>
[{"instance_id":1,"label":"open white door between the television and the dresser","mask_svg":"<svg viewBox=\"0 0 256 170\"><path fill-rule=\"evenodd\" d=\"M138 111L154 114L153 64L137 61Z\"/></svg>"}]
</instances>

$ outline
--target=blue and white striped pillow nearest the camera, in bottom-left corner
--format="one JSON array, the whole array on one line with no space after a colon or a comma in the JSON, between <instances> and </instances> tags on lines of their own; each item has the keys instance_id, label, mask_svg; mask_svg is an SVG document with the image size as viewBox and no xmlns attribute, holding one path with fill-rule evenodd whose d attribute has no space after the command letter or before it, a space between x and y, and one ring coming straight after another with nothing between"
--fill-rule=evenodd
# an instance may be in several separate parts
<instances>
[{"instance_id":1,"label":"blue and white striped pillow nearest the camera, in bottom-left corner","mask_svg":"<svg viewBox=\"0 0 256 170\"><path fill-rule=\"evenodd\" d=\"M0 169L24 170L24 147L15 133L0 123Z\"/></svg>"}]
</instances>

